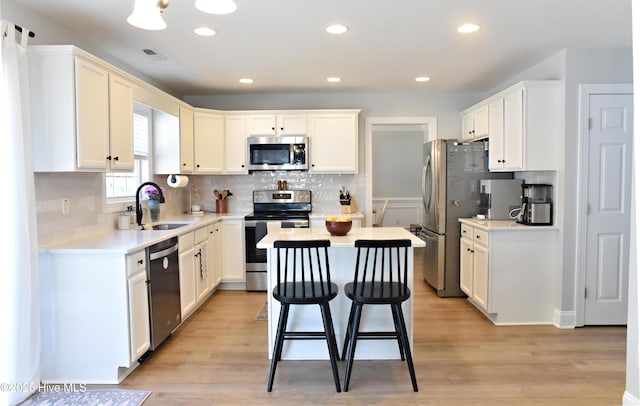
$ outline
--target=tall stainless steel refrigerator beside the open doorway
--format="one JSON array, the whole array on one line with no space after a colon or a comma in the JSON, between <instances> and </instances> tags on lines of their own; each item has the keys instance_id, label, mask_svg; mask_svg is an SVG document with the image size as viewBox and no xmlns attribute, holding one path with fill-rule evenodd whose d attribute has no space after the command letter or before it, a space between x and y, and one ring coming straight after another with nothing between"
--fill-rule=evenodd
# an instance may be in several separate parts
<instances>
[{"instance_id":1,"label":"tall stainless steel refrigerator beside the open doorway","mask_svg":"<svg viewBox=\"0 0 640 406\"><path fill-rule=\"evenodd\" d=\"M460 224L478 214L480 179L510 179L487 169L485 142L434 140L424 144L421 238L424 279L441 297L460 297Z\"/></svg>"}]
</instances>

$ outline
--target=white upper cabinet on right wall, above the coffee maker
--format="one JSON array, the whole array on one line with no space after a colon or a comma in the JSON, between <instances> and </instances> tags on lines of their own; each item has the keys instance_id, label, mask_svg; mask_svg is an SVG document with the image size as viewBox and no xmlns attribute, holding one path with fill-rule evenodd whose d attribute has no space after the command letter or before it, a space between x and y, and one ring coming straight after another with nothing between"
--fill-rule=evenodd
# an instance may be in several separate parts
<instances>
[{"instance_id":1,"label":"white upper cabinet on right wall, above the coffee maker","mask_svg":"<svg viewBox=\"0 0 640 406\"><path fill-rule=\"evenodd\" d=\"M558 81L520 82L497 95L489 108L489 170L557 170L561 99Z\"/></svg>"}]
</instances>

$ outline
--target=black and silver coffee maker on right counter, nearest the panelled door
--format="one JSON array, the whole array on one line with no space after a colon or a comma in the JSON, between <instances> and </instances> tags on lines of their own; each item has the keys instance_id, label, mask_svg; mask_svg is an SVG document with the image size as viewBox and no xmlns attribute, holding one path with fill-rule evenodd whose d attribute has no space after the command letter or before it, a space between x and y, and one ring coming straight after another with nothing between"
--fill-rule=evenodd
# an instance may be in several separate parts
<instances>
[{"instance_id":1,"label":"black and silver coffee maker on right counter, nearest the panelled door","mask_svg":"<svg viewBox=\"0 0 640 406\"><path fill-rule=\"evenodd\" d=\"M553 186L545 183L522 184L522 209L518 223L533 226L553 224Z\"/></svg>"}]
</instances>

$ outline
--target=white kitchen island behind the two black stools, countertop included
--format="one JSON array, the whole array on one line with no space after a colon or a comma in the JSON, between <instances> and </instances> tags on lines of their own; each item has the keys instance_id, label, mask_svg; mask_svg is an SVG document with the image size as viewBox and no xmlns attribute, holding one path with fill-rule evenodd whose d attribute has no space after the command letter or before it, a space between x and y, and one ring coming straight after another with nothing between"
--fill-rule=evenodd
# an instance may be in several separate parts
<instances>
[{"instance_id":1,"label":"white kitchen island behind the two black stools, countertop included","mask_svg":"<svg viewBox=\"0 0 640 406\"><path fill-rule=\"evenodd\" d=\"M331 236L324 228L269 229L267 235L258 242L258 248L267 249L267 289L269 319L269 358L272 357L273 343L280 313L280 303L271 294L276 284L277 268L274 241L278 240L323 240L331 241L329 265L331 280L340 292L331 301L331 315L336 332L338 347L342 348L345 330L349 319L351 301L344 295L343 286L353 281L355 269L356 240L409 239L413 247L424 247L425 243L417 236L400 227L363 227L352 228L346 236ZM409 288L413 289L413 250L409 250ZM413 296L402 306L409 342L413 347ZM322 317L318 306L292 306L289 313L289 326L298 330L322 331ZM361 330L393 330L393 319L388 306L365 306L362 315ZM398 344L393 340L358 341L356 359L400 359ZM282 359L329 359L327 344L324 340L285 341Z\"/></svg>"}]
</instances>

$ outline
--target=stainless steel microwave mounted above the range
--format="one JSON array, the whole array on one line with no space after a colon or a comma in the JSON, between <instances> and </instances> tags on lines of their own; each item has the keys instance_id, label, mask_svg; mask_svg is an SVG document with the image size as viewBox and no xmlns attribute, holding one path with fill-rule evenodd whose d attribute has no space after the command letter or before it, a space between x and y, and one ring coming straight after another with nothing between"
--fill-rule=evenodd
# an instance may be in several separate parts
<instances>
[{"instance_id":1,"label":"stainless steel microwave mounted above the range","mask_svg":"<svg viewBox=\"0 0 640 406\"><path fill-rule=\"evenodd\" d=\"M247 137L250 171L309 169L309 137L305 135Z\"/></svg>"}]
</instances>

